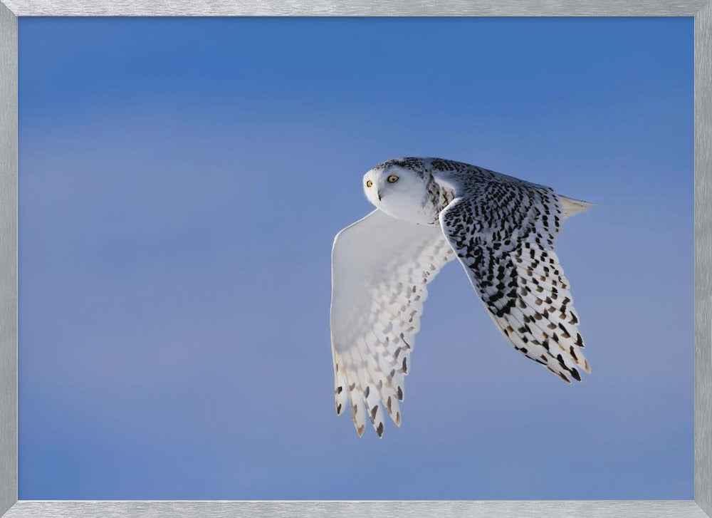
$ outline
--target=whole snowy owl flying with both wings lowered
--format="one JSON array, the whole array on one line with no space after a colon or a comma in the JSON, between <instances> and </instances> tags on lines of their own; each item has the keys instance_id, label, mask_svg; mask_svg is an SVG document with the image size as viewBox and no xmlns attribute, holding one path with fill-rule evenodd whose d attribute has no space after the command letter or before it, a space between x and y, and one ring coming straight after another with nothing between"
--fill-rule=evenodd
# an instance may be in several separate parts
<instances>
[{"instance_id":1,"label":"whole snowy owl flying with both wings lowered","mask_svg":"<svg viewBox=\"0 0 712 518\"><path fill-rule=\"evenodd\" d=\"M336 235L331 294L336 413L359 437L366 419L383 435L383 408L400 425L427 284L455 257L517 351L568 383L590 373L554 238L593 204L431 157L382 162L363 189L376 209Z\"/></svg>"}]
</instances>

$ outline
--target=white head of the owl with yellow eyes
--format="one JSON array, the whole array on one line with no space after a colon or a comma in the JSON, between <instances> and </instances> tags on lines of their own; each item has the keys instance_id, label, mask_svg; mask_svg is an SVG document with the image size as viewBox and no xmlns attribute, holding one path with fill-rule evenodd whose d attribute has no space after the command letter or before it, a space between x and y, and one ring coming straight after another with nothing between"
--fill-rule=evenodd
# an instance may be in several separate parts
<instances>
[{"instance_id":1,"label":"white head of the owl with yellow eyes","mask_svg":"<svg viewBox=\"0 0 712 518\"><path fill-rule=\"evenodd\" d=\"M389 216L414 223L433 220L428 165L419 158L394 158L363 175L366 198Z\"/></svg>"}]
</instances>

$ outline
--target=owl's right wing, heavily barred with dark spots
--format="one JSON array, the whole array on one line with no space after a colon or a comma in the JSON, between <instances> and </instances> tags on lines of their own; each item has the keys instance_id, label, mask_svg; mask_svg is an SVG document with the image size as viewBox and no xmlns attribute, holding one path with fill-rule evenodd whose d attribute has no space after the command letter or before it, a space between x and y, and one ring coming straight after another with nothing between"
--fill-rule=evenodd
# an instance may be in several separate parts
<instances>
[{"instance_id":1,"label":"owl's right wing, heavily barred with dark spots","mask_svg":"<svg viewBox=\"0 0 712 518\"><path fill-rule=\"evenodd\" d=\"M562 200L550 187L497 175L458 185L440 223L514 348L570 382L581 380L577 367L590 368L569 281L554 251Z\"/></svg>"}]
</instances>

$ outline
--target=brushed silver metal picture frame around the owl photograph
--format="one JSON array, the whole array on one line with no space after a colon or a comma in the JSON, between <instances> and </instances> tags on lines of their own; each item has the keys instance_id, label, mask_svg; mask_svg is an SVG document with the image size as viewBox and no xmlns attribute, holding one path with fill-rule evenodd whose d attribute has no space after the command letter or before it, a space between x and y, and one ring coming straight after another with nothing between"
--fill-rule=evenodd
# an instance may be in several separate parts
<instances>
[{"instance_id":1,"label":"brushed silver metal picture frame around the owl photograph","mask_svg":"<svg viewBox=\"0 0 712 518\"><path fill-rule=\"evenodd\" d=\"M693 16L695 53L694 500L191 502L18 500L19 16ZM1 0L0 516L712 517L712 0Z\"/></svg>"}]
</instances>

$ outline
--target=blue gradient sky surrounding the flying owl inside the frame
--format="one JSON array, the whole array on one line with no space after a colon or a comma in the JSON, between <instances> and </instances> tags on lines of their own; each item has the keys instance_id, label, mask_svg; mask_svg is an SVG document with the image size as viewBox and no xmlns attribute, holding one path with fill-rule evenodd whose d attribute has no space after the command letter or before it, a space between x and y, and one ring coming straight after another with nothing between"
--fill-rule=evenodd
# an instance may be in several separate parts
<instances>
[{"instance_id":1,"label":"blue gradient sky surrounding the flying owl inside the frame","mask_svg":"<svg viewBox=\"0 0 712 518\"><path fill-rule=\"evenodd\" d=\"M692 19L19 21L21 499L691 499ZM404 423L333 410L362 173L449 157L600 204L559 255L592 374L458 264Z\"/></svg>"}]
</instances>

